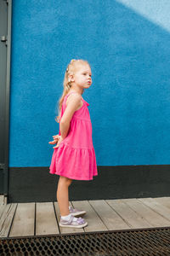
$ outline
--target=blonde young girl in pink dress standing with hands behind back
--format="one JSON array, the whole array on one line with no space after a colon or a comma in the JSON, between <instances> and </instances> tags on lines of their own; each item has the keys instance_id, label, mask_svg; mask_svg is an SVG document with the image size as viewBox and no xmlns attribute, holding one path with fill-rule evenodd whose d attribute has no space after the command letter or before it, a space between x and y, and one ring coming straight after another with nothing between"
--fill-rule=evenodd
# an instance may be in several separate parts
<instances>
[{"instance_id":1,"label":"blonde young girl in pink dress standing with hands behind back","mask_svg":"<svg viewBox=\"0 0 170 256\"><path fill-rule=\"evenodd\" d=\"M92 140L92 124L88 102L82 93L92 84L88 61L72 60L65 72L64 91L59 100L59 135L53 136L54 147L51 174L59 175L57 201L59 226L82 228L88 225L82 216L85 211L69 207L68 188L73 179L92 180L98 175Z\"/></svg>"}]
</instances>

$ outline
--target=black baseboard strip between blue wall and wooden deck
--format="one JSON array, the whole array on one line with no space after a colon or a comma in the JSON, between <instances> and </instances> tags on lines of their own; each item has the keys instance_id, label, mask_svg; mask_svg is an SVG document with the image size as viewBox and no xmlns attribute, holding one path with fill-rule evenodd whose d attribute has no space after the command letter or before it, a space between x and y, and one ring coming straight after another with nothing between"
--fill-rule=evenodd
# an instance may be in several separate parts
<instances>
[{"instance_id":1,"label":"black baseboard strip between blue wall and wooden deck","mask_svg":"<svg viewBox=\"0 0 170 256\"><path fill-rule=\"evenodd\" d=\"M48 167L11 167L8 203L56 201L58 179ZM98 166L94 180L73 180L69 195L70 201L170 196L170 165Z\"/></svg>"}]
</instances>

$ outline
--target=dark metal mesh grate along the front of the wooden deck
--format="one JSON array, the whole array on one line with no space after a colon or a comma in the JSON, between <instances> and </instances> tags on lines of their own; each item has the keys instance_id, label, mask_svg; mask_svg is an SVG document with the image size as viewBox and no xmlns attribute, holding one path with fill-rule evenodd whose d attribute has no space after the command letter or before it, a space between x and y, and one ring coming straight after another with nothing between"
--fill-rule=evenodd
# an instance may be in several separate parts
<instances>
[{"instance_id":1,"label":"dark metal mesh grate along the front of the wooden deck","mask_svg":"<svg viewBox=\"0 0 170 256\"><path fill-rule=\"evenodd\" d=\"M170 227L0 239L1 256L170 255Z\"/></svg>"}]
</instances>

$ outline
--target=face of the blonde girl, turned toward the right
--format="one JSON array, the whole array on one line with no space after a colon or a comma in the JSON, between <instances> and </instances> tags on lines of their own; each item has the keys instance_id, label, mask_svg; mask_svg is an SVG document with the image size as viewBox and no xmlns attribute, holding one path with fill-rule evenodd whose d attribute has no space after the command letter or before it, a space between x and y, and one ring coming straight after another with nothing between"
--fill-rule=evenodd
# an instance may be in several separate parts
<instances>
[{"instance_id":1,"label":"face of the blonde girl, turned toward the right","mask_svg":"<svg viewBox=\"0 0 170 256\"><path fill-rule=\"evenodd\" d=\"M91 68L87 65L80 65L77 67L76 72L73 75L74 83L82 89L89 88L92 84L92 72Z\"/></svg>"}]
</instances>

